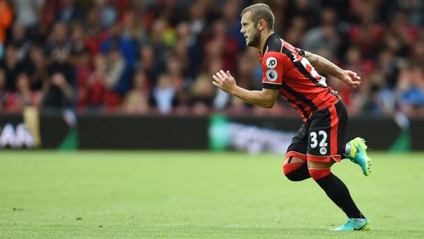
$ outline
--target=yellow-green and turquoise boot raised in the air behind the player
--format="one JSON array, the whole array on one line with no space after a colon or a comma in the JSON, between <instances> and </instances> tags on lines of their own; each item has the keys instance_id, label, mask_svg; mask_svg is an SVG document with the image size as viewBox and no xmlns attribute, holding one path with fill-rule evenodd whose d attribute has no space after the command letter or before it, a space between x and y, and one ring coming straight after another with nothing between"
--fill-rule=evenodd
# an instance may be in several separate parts
<instances>
[{"instance_id":1,"label":"yellow-green and turquoise boot raised in the air behind the player","mask_svg":"<svg viewBox=\"0 0 424 239\"><path fill-rule=\"evenodd\" d=\"M351 146L350 153L345 156L355 164L358 164L362 168L362 173L365 176L370 175L372 161L367 155L367 145L363 138L356 137L350 140L347 144Z\"/></svg>"}]
</instances>

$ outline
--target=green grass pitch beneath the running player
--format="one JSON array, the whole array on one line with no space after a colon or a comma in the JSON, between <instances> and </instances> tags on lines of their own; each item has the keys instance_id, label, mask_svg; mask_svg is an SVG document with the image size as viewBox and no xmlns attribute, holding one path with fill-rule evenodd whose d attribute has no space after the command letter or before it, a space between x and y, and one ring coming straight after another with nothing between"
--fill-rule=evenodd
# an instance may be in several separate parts
<instances>
[{"instance_id":1,"label":"green grass pitch beneath the running player","mask_svg":"<svg viewBox=\"0 0 424 239\"><path fill-rule=\"evenodd\" d=\"M423 238L424 154L371 152L365 178L333 166L372 231L275 154L0 152L0 238Z\"/></svg>"}]
</instances>

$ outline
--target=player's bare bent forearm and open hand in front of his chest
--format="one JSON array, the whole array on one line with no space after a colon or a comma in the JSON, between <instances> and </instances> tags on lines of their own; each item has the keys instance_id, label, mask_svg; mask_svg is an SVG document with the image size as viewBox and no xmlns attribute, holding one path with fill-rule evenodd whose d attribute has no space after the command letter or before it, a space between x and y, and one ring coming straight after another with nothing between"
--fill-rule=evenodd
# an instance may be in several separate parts
<instances>
[{"instance_id":1,"label":"player's bare bent forearm and open hand in front of his chest","mask_svg":"<svg viewBox=\"0 0 424 239\"><path fill-rule=\"evenodd\" d=\"M272 108L279 92L278 89L262 89L262 91L259 91L248 90L239 87L236 84L236 80L234 77L232 77L229 71L225 73L224 71L220 70L215 75L213 75L212 78L212 84L216 87L229 94L239 97L245 102L263 108Z\"/></svg>"}]
</instances>

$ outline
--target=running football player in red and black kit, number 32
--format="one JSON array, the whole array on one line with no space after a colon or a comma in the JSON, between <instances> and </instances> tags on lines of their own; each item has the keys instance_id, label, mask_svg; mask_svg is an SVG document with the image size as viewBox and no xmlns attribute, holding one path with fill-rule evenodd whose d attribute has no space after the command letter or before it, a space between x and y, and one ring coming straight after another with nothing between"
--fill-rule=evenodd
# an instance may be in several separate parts
<instances>
[{"instance_id":1,"label":"running football player in red and black kit, number 32","mask_svg":"<svg viewBox=\"0 0 424 239\"><path fill-rule=\"evenodd\" d=\"M213 85L255 106L272 108L277 96L287 100L303 124L287 149L282 171L289 180L312 178L348 219L336 231L370 230L368 218L356 207L346 185L331 173L333 163L345 157L370 173L371 159L362 138L345 143L347 110L337 92L326 85L328 73L357 89L361 78L319 55L293 47L273 32L274 16L266 4L248 6L241 13L241 34L246 45L259 50L262 91L236 85L229 73L213 75Z\"/></svg>"}]
</instances>

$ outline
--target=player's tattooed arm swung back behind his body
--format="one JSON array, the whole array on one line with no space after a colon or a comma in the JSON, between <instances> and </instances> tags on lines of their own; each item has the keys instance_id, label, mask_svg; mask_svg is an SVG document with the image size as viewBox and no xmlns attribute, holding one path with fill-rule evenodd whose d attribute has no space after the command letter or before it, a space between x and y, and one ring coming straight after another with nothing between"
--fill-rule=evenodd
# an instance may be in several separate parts
<instances>
[{"instance_id":1,"label":"player's tattooed arm swung back behind his body","mask_svg":"<svg viewBox=\"0 0 424 239\"><path fill-rule=\"evenodd\" d=\"M361 85L361 77L357 73L349 70L343 70L333 64L333 62L328 61L328 59L315 55L311 52L305 51L305 57L308 59L310 64L314 66L315 70L333 75L335 78L339 78L352 89L358 89L359 85Z\"/></svg>"}]
</instances>

